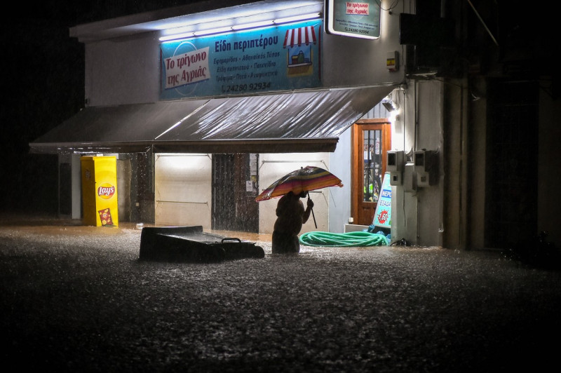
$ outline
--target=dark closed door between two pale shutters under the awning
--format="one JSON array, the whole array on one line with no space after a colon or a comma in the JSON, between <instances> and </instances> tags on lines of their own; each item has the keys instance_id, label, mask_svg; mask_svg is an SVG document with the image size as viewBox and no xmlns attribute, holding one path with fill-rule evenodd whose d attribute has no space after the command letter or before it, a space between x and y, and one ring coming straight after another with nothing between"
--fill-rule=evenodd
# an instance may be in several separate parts
<instances>
[{"instance_id":1,"label":"dark closed door between two pale shutters under the awning","mask_svg":"<svg viewBox=\"0 0 561 373\"><path fill-rule=\"evenodd\" d=\"M257 154L212 155L212 229L259 232Z\"/></svg>"}]
</instances>

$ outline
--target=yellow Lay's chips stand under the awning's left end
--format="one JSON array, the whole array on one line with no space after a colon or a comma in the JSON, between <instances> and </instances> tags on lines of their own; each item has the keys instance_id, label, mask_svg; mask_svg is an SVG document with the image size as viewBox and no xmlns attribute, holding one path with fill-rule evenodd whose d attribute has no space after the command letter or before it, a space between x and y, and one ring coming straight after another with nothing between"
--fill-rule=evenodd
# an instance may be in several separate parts
<instances>
[{"instance_id":1,"label":"yellow Lay's chips stand under the awning's left end","mask_svg":"<svg viewBox=\"0 0 561 373\"><path fill-rule=\"evenodd\" d=\"M119 226L117 159L115 156L82 156L83 224Z\"/></svg>"}]
</instances>

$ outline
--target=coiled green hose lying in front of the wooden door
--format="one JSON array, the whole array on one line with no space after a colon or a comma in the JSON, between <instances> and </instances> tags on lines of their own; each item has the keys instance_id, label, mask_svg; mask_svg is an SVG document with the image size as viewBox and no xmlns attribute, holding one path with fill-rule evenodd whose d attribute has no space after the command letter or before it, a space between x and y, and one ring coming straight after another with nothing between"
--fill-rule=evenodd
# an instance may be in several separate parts
<instances>
[{"instance_id":1,"label":"coiled green hose lying in front of the wooden door","mask_svg":"<svg viewBox=\"0 0 561 373\"><path fill-rule=\"evenodd\" d=\"M386 236L364 231L346 233L306 232L300 235L299 241L302 245L327 247L389 245L389 241Z\"/></svg>"}]
</instances>

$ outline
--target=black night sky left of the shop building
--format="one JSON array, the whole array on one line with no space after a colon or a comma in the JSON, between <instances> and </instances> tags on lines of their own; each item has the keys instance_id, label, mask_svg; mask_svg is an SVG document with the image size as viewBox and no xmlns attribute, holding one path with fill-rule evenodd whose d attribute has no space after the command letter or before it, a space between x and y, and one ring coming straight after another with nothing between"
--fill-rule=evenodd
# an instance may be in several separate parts
<instances>
[{"instance_id":1,"label":"black night sky left of the shop building","mask_svg":"<svg viewBox=\"0 0 561 373\"><path fill-rule=\"evenodd\" d=\"M83 44L69 28L190 2L22 1L4 12L0 212L57 212L57 157L29 154L29 142L83 107Z\"/></svg>"}]
</instances>

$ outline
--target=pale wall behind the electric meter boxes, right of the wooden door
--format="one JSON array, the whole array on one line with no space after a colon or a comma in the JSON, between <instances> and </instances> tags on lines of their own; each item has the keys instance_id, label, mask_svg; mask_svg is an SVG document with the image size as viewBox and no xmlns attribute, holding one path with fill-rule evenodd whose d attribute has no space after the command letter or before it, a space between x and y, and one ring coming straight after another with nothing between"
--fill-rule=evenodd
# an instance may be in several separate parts
<instances>
[{"instance_id":1,"label":"pale wall behind the electric meter boxes, right of the wooden door","mask_svg":"<svg viewBox=\"0 0 561 373\"><path fill-rule=\"evenodd\" d=\"M399 118L392 126L394 150L412 154L416 150L438 151L440 172L431 186L416 187L412 161L406 165L404 184L392 186L392 240L405 238L412 245L442 245L442 83L410 81L405 90L394 90L400 107ZM412 184L408 182L412 180Z\"/></svg>"}]
</instances>

